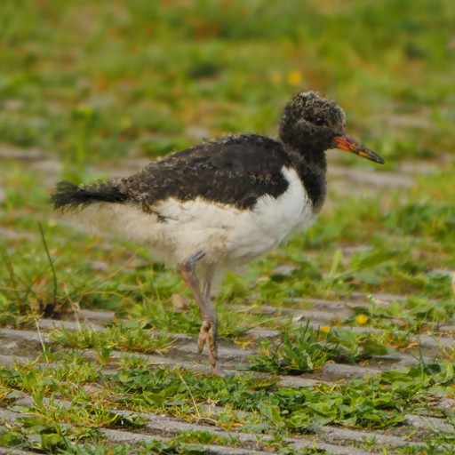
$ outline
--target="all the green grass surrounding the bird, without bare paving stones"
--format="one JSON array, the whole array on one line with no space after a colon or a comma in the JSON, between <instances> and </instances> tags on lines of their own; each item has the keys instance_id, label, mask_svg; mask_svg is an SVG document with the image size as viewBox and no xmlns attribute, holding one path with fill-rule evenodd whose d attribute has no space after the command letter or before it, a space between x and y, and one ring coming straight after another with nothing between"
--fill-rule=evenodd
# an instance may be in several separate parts
<instances>
[{"instance_id":1,"label":"all the green grass surrounding the bird, without bare paving stones","mask_svg":"<svg viewBox=\"0 0 455 455\"><path fill-rule=\"evenodd\" d=\"M426 351L416 340L450 338L454 323L454 20L448 0L6 2L0 325L36 331L42 317L66 317L78 307L116 318L104 331L84 324L47 331L49 343L30 340L19 349L29 363L2 365L0 411L31 417L3 422L0 445L76 454L244 447L212 432L140 444L110 443L102 433L140 432L145 423L135 412L156 412L255 432L259 440L272 435L254 448L278 453L315 453L286 438L323 440L327 426L428 441L423 449L359 443L365 450L451 453L450 431L416 432L403 419L414 413L453 422L451 409L438 405L453 399L453 347ZM328 203L307 233L241 276L228 274L217 302L221 338L250 349L250 367L268 376L218 379L152 368L141 355L179 355L185 341L172 334L199 331L195 305L173 307L174 294L184 302L188 290L172 271L152 265L147 250L56 220L51 188L61 178L135 169L138 158L203 138L274 135L280 109L301 90L339 101L347 130L387 161L379 170L330 152L330 167L348 166L366 180L392 172L391 184L349 182L329 170ZM300 326L293 320L299 313L285 309L318 310L311 299L346 299L348 311L333 304L319 329ZM264 305L275 312L261 312ZM251 328L282 335L258 343ZM401 354L420 361L317 387L280 385L287 374L317 379L333 362L360 367ZM437 356L435 363L425 364L426 355Z\"/></svg>"}]
</instances>

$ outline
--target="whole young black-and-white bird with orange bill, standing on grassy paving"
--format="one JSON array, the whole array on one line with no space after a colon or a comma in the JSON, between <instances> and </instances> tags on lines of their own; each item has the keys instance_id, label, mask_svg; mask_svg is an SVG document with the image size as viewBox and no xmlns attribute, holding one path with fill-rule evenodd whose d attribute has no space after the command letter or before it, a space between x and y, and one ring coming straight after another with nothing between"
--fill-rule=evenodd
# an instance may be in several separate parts
<instances>
[{"instance_id":1,"label":"whole young black-and-white bird with orange bill, standing on grassy paving","mask_svg":"<svg viewBox=\"0 0 455 455\"><path fill-rule=\"evenodd\" d=\"M278 137L238 133L150 162L129 177L60 181L54 209L86 226L145 245L180 272L199 306L200 353L220 364L212 287L224 273L305 230L326 196L326 151L384 160L345 131L346 115L320 92L299 92L283 109Z\"/></svg>"}]
</instances>

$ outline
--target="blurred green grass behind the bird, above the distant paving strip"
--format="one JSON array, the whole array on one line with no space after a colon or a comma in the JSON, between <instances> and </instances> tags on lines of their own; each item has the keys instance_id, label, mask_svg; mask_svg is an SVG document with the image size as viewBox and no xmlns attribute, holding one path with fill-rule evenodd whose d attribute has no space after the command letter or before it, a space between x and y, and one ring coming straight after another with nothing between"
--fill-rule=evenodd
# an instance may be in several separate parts
<instances>
[{"instance_id":1,"label":"blurred green grass behind the bird, above the distant paving strip","mask_svg":"<svg viewBox=\"0 0 455 455\"><path fill-rule=\"evenodd\" d=\"M318 90L388 166L439 159L453 141L453 24L451 0L4 0L0 141L77 174L275 134L291 94Z\"/></svg>"}]
</instances>

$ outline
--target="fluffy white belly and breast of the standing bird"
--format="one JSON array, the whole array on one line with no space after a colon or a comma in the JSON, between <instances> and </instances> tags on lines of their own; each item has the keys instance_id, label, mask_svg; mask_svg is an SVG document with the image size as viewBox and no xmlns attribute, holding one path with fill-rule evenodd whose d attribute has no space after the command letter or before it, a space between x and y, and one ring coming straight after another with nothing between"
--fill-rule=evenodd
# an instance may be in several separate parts
<instances>
[{"instance_id":1,"label":"fluffy white belly and breast of the standing bird","mask_svg":"<svg viewBox=\"0 0 455 455\"><path fill-rule=\"evenodd\" d=\"M252 210L203 198L186 202L171 198L152 207L162 221L128 204L96 204L83 212L99 220L100 229L147 245L156 260L167 266L174 267L196 251L204 251L205 264L235 267L259 257L313 219L311 202L297 172L287 168L282 172L289 181L287 191L276 199L260 197Z\"/></svg>"}]
</instances>

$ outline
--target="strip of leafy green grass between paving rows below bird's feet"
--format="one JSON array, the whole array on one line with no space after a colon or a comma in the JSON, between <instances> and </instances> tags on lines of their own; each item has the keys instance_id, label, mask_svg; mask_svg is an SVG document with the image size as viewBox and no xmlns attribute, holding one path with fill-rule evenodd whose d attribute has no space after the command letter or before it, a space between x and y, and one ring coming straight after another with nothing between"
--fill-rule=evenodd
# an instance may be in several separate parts
<instances>
[{"instance_id":1,"label":"strip of leafy green grass between paving rows below bird's feet","mask_svg":"<svg viewBox=\"0 0 455 455\"><path fill-rule=\"evenodd\" d=\"M259 434L272 431L278 435L295 435L315 432L328 424L391 429L403 424L404 412L441 416L441 411L428 409L427 402L453 397L454 384L451 363L421 364L338 385L292 388L277 387L274 381L248 376L220 379L188 371L150 371L140 367L126 367L90 379L86 376L73 389L68 389L66 378L54 376L52 369L37 371L31 366L15 365L12 370L0 373L2 387L10 389L10 393L31 395L32 403L22 410L36 416L22 419L21 426L13 427L4 441L19 445L24 441L22 436L39 433L47 435L41 441L44 450L50 450L46 443L58 446L64 441L90 441L100 427L145 424L144 419L134 414L121 415L114 408L157 411L190 420L198 416L198 419L211 419L219 427L231 429L234 425ZM96 383L102 388L87 392L84 383ZM37 388L43 386L46 395L51 392L47 403L41 395L36 395ZM60 401L65 399L68 405ZM222 408L213 413L210 411L213 405ZM17 438L12 439L15 433ZM49 440L49 435L55 436ZM182 438L180 435L180 441Z\"/></svg>"}]
</instances>

